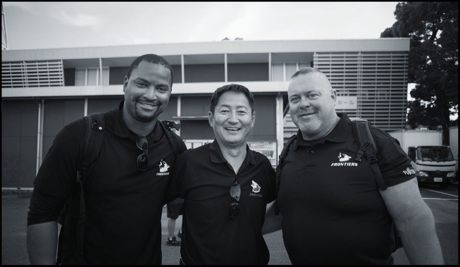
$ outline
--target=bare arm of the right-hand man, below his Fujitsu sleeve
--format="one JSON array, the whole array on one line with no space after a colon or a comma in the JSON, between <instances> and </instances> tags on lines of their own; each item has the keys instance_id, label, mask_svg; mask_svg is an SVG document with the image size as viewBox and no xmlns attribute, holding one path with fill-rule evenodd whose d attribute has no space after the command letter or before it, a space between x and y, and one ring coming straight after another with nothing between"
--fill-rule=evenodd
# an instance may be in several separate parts
<instances>
[{"instance_id":1,"label":"bare arm of the right-hand man, below his Fujitsu sleeve","mask_svg":"<svg viewBox=\"0 0 460 267\"><path fill-rule=\"evenodd\" d=\"M444 264L433 213L423 201L417 178L380 191L401 235L411 264Z\"/></svg>"}]
</instances>

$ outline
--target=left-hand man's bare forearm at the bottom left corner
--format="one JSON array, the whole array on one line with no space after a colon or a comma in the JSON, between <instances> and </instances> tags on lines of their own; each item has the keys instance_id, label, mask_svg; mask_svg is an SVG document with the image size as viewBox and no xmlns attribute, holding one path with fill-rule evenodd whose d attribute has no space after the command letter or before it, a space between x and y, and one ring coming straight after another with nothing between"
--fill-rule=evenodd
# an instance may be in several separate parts
<instances>
[{"instance_id":1,"label":"left-hand man's bare forearm at the bottom left corner","mask_svg":"<svg viewBox=\"0 0 460 267\"><path fill-rule=\"evenodd\" d=\"M56 221L27 227L27 252L30 264L56 264L58 224Z\"/></svg>"}]
</instances>

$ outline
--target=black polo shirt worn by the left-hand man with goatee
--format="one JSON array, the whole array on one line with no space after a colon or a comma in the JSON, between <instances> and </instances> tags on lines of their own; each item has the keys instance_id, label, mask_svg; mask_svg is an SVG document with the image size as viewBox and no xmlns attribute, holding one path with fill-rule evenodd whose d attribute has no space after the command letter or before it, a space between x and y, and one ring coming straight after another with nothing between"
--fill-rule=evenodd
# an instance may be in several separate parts
<instances>
[{"instance_id":1,"label":"black polo shirt worn by the left-hand man with goatee","mask_svg":"<svg viewBox=\"0 0 460 267\"><path fill-rule=\"evenodd\" d=\"M121 117L122 107L123 102L104 113L104 142L86 177L84 260L88 264L161 264L160 219L176 157L157 122L147 136L148 170L138 170L136 159L142 151L135 144L136 134ZM85 128L85 120L80 119L58 133L34 181L28 225L55 221L77 187ZM182 151L186 150L181 143ZM166 171L160 170L160 161L169 165ZM72 263L77 259L75 224L66 230L63 263Z\"/></svg>"}]
</instances>

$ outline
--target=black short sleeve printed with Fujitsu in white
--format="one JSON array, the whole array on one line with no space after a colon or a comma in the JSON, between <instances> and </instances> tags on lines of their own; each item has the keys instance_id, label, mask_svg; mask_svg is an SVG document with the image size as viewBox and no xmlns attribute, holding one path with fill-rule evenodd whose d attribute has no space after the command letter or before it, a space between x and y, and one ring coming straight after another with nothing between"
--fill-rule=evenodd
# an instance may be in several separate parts
<instances>
[{"instance_id":1,"label":"black short sleeve printed with Fujitsu in white","mask_svg":"<svg viewBox=\"0 0 460 267\"><path fill-rule=\"evenodd\" d=\"M387 187L395 186L416 177L410 158L404 153L397 140L387 133L376 135L377 159Z\"/></svg>"}]
</instances>

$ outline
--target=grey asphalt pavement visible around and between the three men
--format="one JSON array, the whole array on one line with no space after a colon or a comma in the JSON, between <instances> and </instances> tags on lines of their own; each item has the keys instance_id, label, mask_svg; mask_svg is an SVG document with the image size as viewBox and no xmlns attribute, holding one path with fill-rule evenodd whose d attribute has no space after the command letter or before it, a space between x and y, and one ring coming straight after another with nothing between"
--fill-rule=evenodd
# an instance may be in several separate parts
<instances>
[{"instance_id":1,"label":"grey asphalt pavement visible around and between the three men","mask_svg":"<svg viewBox=\"0 0 460 267\"><path fill-rule=\"evenodd\" d=\"M445 264L458 265L458 184L451 185L447 190L433 186L421 187L420 192L435 217ZM30 192L2 192L2 264L29 264L26 219L30 195ZM182 216L179 216L176 220L176 235L181 219ZM166 246L166 207L163 208L161 225L162 263L177 265L180 247ZM265 235L264 238L270 251L268 264L291 264L281 231ZM403 248L393 253L393 257L396 265L409 264Z\"/></svg>"}]
</instances>

